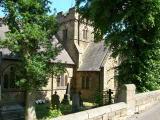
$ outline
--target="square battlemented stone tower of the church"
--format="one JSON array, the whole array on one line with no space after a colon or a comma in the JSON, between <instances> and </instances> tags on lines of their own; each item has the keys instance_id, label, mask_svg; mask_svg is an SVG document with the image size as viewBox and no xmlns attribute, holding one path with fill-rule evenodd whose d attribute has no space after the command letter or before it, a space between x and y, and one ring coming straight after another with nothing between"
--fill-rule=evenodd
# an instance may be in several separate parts
<instances>
[{"instance_id":1,"label":"square battlemented stone tower of the church","mask_svg":"<svg viewBox=\"0 0 160 120\"><path fill-rule=\"evenodd\" d=\"M94 29L86 20L80 20L75 8L70 8L65 14L59 12L57 21L59 23L57 38L78 67L88 44L94 40Z\"/></svg>"}]
</instances>

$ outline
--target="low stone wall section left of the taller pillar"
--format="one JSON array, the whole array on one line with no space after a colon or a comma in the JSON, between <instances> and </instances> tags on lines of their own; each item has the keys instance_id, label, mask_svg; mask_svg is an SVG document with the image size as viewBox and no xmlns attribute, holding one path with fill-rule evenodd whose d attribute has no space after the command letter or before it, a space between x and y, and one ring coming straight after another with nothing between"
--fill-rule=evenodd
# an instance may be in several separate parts
<instances>
[{"instance_id":1,"label":"low stone wall section left of the taller pillar","mask_svg":"<svg viewBox=\"0 0 160 120\"><path fill-rule=\"evenodd\" d=\"M73 113L53 120L125 120L127 105L124 102Z\"/></svg>"}]
</instances>

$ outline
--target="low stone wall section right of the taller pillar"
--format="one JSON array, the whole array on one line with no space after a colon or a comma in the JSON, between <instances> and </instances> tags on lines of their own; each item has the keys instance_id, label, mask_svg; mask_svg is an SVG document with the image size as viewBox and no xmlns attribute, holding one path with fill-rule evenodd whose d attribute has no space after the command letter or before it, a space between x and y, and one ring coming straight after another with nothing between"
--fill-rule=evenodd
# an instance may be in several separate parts
<instances>
[{"instance_id":1,"label":"low stone wall section right of the taller pillar","mask_svg":"<svg viewBox=\"0 0 160 120\"><path fill-rule=\"evenodd\" d=\"M135 112L141 113L160 103L160 90L136 94Z\"/></svg>"}]
</instances>

